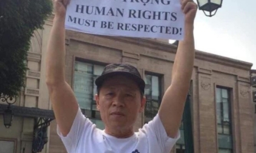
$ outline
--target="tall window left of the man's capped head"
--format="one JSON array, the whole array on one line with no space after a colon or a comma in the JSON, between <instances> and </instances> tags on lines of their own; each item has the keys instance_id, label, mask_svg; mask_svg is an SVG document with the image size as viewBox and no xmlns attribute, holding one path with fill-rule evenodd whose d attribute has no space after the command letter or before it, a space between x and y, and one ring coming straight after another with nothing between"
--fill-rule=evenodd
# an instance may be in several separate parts
<instances>
[{"instance_id":1,"label":"tall window left of the man's capped head","mask_svg":"<svg viewBox=\"0 0 256 153\"><path fill-rule=\"evenodd\" d=\"M100 65L76 61L74 69L74 94L80 109L99 129L104 129L104 125L94 99L97 93L94 81L103 72L103 68Z\"/></svg>"}]
</instances>

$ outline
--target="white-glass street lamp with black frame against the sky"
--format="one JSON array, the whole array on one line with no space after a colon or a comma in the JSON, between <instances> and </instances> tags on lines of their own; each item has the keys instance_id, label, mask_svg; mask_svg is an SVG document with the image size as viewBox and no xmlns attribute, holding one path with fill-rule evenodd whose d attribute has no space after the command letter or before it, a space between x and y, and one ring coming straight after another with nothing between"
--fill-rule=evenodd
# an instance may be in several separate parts
<instances>
[{"instance_id":1,"label":"white-glass street lamp with black frame against the sky","mask_svg":"<svg viewBox=\"0 0 256 153\"><path fill-rule=\"evenodd\" d=\"M222 8L223 0L197 0L199 5L199 10L208 11L208 14L205 13L206 16L212 17L218 11L218 8Z\"/></svg>"}]
</instances>

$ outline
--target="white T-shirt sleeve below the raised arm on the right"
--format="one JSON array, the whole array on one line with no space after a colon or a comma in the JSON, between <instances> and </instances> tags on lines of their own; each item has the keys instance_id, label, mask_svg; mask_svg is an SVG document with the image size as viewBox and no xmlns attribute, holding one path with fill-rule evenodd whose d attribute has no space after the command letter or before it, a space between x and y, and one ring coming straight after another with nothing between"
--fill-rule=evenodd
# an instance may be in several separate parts
<instances>
[{"instance_id":1,"label":"white T-shirt sleeve below the raised arm on the right","mask_svg":"<svg viewBox=\"0 0 256 153\"><path fill-rule=\"evenodd\" d=\"M147 133L149 144L156 143L155 145L158 145L163 153L170 152L180 138L180 132L177 133L176 138L170 138L167 135L166 129L159 118L159 114L157 114L148 124L144 125L143 130Z\"/></svg>"}]
</instances>

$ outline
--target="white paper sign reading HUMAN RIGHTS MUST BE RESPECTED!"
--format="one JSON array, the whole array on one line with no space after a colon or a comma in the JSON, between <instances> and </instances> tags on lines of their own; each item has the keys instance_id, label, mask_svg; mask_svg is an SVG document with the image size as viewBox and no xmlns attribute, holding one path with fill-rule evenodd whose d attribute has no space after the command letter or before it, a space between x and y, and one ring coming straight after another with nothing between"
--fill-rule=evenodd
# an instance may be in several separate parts
<instances>
[{"instance_id":1,"label":"white paper sign reading HUMAN RIGHTS MUST BE RESPECTED!","mask_svg":"<svg viewBox=\"0 0 256 153\"><path fill-rule=\"evenodd\" d=\"M71 0L65 27L90 34L182 40L180 0Z\"/></svg>"}]
</instances>

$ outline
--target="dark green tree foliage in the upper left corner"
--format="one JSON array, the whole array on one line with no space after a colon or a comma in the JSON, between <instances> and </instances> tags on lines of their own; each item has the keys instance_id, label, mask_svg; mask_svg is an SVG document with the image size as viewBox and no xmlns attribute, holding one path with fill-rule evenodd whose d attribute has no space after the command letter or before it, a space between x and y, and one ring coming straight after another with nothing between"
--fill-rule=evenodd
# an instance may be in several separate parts
<instances>
[{"instance_id":1,"label":"dark green tree foliage in the upper left corner","mask_svg":"<svg viewBox=\"0 0 256 153\"><path fill-rule=\"evenodd\" d=\"M18 96L25 86L31 37L51 11L51 0L0 1L0 94Z\"/></svg>"}]
</instances>

